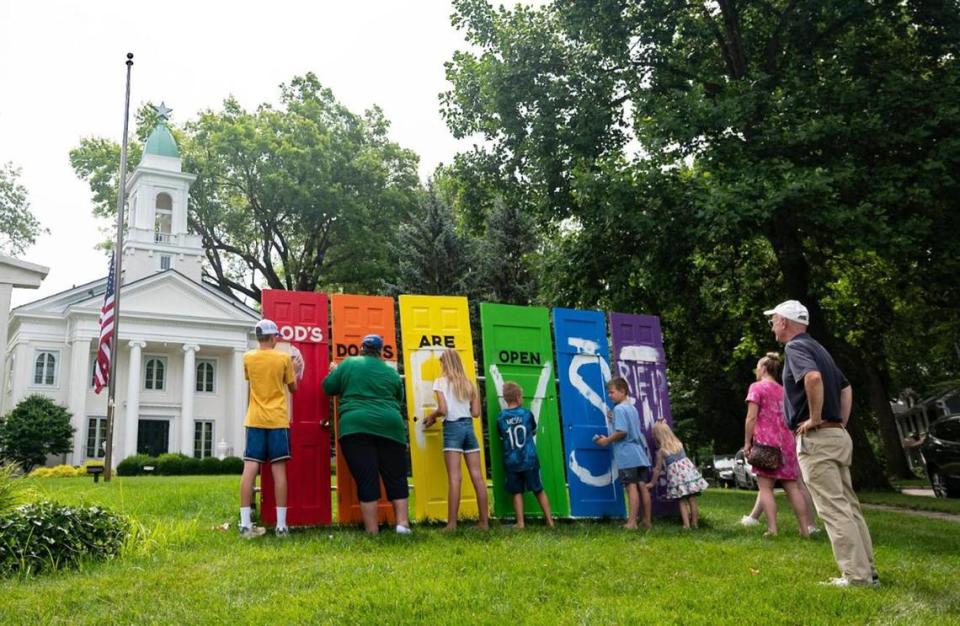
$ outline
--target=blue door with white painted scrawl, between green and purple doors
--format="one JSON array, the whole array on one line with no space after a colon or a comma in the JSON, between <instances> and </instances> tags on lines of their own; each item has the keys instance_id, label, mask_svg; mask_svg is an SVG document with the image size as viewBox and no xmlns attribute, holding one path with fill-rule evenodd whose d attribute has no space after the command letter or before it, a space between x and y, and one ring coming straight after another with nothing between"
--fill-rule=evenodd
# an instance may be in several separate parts
<instances>
[{"instance_id":1,"label":"blue door with white painted scrawl, between green and purple doors","mask_svg":"<svg viewBox=\"0 0 960 626\"><path fill-rule=\"evenodd\" d=\"M613 453L593 442L594 435L609 433L610 351L604 315L556 308L553 328L570 514L624 517L623 488L616 478Z\"/></svg>"}]
</instances>

